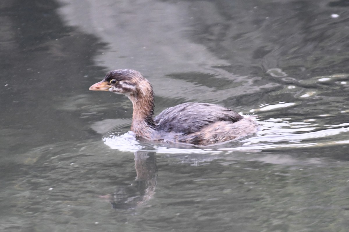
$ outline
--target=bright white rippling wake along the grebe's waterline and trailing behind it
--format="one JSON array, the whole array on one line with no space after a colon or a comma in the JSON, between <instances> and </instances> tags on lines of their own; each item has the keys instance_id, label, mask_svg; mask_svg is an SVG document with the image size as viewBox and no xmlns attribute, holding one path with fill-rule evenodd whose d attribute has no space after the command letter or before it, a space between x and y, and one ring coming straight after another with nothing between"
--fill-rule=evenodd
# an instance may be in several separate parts
<instances>
[{"instance_id":1,"label":"bright white rippling wake along the grebe's waterline and trailing behind it","mask_svg":"<svg viewBox=\"0 0 349 232\"><path fill-rule=\"evenodd\" d=\"M320 147L330 146L338 144L349 144L349 140L346 139L346 134L349 132L349 124L342 123L340 125L329 125L329 129L322 129L318 131L312 131L304 133L304 131L317 130L318 127L310 125L310 123L292 123L287 122L278 123L261 123L264 130L259 131L257 136L253 136L247 139L243 139L238 143L235 142L234 147L230 148L218 148L217 150L211 148L191 148L180 149L163 146L154 146L154 150L158 153L218 153L219 150L266 150L266 149L287 149L287 148L304 148L304 147ZM339 127L339 128L334 128ZM332 128L332 129L330 129ZM334 135L342 135L333 139ZM342 138L343 140L338 140ZM321 142L312 142L312 141ZM309 142L306 142L309 141ZM143 150L145 146L142 146L136 141L132 131L122 135L109 135L103 138L103 142L111 149L117 149L120 151L137 151ZM222 144L214 145L219 147ZM171 145L167 145L171 146ZM225 144L227 146L227 144Z\"/></svg>"}]
</instances>

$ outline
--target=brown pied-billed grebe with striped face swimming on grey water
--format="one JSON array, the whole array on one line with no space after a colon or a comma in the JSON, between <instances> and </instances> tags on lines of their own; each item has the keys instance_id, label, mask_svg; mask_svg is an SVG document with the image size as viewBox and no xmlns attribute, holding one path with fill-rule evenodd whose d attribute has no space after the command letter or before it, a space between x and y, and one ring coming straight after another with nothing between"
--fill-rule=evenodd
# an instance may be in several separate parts
<instances>
[{"instance_id":1,"label":"brown pied-billed grebe with striped face swimming on grey water","mask_svg":"<svg viewBox=\"0 0 349 232\"><path fill-rule=\"evenodd\" d=\"M242 116L226 107L188 102L170 107L154 118L153 88L132 69L110 71L90 90L126 95L133 104L131 131L151 141L209 145L255 133L253 116Z\"/></svg>"}]
</instances>

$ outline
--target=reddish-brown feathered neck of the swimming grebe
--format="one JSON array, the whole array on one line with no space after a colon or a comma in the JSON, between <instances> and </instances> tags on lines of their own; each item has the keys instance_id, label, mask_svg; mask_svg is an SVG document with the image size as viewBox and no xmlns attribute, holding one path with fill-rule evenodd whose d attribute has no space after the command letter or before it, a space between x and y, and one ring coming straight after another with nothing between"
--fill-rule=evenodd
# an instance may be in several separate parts
<instances>
[{"instance_id":1,"label":"reddish-brown feathered neck of the swimming grebe","mask_svg":"<svg viewBox=\"0 0 349 232\"><path fill-rule=\"evenodd\" d=\"M131 131L137 137L150 138L155 128L153 90L129 98L133 104Z\"/></svg>"}]
</instances>

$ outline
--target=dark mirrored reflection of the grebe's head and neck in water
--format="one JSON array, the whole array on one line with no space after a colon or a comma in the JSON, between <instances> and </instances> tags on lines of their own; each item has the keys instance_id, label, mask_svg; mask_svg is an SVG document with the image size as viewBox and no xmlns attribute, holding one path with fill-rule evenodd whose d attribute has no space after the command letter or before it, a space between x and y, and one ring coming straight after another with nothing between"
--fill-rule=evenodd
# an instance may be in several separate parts
<instances>
[{"instance_id":1,"label":"dark mirrored reflection of the grebe's head and neck in water","mask_svg":"<svg viewBox=\"0 0 349 232\"><path fill-rule=\"evenodd\" d=\"M100 196L110 201L113 209L130 209L145 204L155 194L157 167L156 152L136 151L134 161L136 179L129 186L118 186L114 193Z\"/></svg>"}]
</instances>

